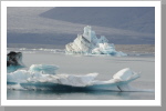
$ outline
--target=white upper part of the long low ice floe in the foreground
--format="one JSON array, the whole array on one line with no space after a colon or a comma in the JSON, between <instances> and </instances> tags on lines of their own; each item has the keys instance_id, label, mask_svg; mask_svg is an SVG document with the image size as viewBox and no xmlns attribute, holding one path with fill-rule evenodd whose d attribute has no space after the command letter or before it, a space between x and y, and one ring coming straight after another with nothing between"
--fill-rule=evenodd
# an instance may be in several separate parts
<instances>
[{"instance_id":1,"label":"white upper part of the long low ice floe in the foreground","mask_svg":"<svg viewBox=\"0 0 166 111\"><path fill-rule=\"evenodd\" d=\"M48 64L45 64L48 65ZM45 67L41 64L33 64L31 65L31 70L18 70L11 73L7 74L7 82L14 82L14 83L23 83L27 85L33 84L32 88L38 88L39 83L51 83L50 85L56 85L56 84L63 84L69 87L76 87L76 88L84 88L84 87L91 87L97 88L97 87L111 87L111 85L117 85L117 88L123 91L125 88L125 91L131 91L131 89L126 89L127 83L138 78L138 74L133 72L131 69L126 68L121 71L118 71L116 74L113 75L113 79L106 80L106 81L100 81L95 80L98 73L89 73L84 75L75 75L75 74L43 74L42 71L45 71L49 69L50 73L50 65ZM34 71L33 69L44 67L43 69L38 69ZM54 69L53 69L54 71ZM48 70L46 70L48 72ZM37 84L37 85L35 85ZM108 84L108 85L107 85ZM122 85L126 84L126 85ZM44 85L44 84L40 84Z\"/></svg>"}]
</instances>

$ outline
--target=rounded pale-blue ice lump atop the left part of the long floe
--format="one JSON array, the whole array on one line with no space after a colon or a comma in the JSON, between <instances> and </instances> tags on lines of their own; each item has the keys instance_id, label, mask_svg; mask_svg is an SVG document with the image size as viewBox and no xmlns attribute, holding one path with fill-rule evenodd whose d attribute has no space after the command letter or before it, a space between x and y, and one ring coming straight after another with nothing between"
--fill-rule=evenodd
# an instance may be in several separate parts
<instances>
[{"instance_id":1,"label":"rounded pale-blue ice lump atop the left part of the long floe","mask_svg":"<svg viewBox=\"0 0 166 111\"><path fill-rule=\"evenodd\" d=\"M43 74L55 74L59 67L54 64L32 64L29 69L30 72L41 72Z\"/></svg>"}]
</instances>

